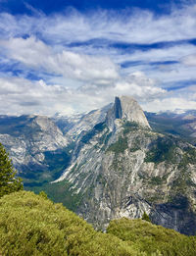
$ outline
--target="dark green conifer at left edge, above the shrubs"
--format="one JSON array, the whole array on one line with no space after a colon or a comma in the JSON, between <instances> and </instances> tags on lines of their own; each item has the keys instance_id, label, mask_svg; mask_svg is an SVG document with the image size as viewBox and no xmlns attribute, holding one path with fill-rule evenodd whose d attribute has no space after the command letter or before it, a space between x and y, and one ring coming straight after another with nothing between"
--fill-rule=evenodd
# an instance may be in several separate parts
<instances>
[{"instance_id":1,"label":"dark green conifer at left edge, above the shrubs","mask_svg":"<svg viewBox=\"0 0 196 256\"><path fill-rule=\"evenodd\" d=\"M0 143L0 197L23 189L22 179L16 178L16 170L4 146Z\"/></svg>"}]
</instances>

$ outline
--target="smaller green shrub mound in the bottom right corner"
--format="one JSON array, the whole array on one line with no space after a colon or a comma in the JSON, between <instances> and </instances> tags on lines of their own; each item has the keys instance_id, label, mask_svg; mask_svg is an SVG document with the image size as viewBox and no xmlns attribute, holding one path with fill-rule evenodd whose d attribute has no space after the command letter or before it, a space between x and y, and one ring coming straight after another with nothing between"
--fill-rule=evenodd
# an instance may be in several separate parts
<instances>
[{"instance_id":1,"label":"smaller green shrub mound in the bottom right corner","mask_svg":"<svg viewBox=\"0 0 196 256\"><path fill-rule=\"evenodd\" d=\"M195 236L186 236L143 220L123 218L112 221L107 231L128 242L129 245L134 244L147 255L155 253L155 255L167 256L195 256Z\"/></svg>"}]
</instances>

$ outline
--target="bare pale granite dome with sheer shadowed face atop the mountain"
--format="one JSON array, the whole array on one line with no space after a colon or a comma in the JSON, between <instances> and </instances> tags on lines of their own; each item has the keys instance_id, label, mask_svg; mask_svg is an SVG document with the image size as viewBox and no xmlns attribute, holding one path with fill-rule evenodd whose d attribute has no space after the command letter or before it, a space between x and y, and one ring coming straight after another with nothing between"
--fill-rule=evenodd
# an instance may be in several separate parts
<instances>
[{"instance_id":1,"label":"bare pale granite dome with sheer shadowed face atop the mountain","mask_svg":"<svg viewBox=\"0 0 196 256\"><path fill-rule=\"evenodd\" d=\"M129 122L135 122L142 127L150 128L143 110L137 101L130 96L115 98L115 104L108 112L108 125L113 127L116 119L124 119Z\"/></svg>"}]
</instances>

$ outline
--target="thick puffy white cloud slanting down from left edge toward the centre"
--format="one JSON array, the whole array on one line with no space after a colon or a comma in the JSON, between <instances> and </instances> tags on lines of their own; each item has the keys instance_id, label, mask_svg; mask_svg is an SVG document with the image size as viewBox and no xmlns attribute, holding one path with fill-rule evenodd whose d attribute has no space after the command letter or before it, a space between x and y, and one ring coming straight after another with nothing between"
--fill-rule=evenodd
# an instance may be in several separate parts
<instances>
[{"instance_id":1,"label":"thick puffy white cloud slanting down from left edge toward the centre","mask_svg":"<svg viewBox=\"0 0 196 256\"><path fill-rule=\"evenodd\" d=\"M118 66L109 57L89 56L63 50L54 53L50 46L31 36L1 40L0 46L7 57L17 60L35 70L42 68L46 72L73 79L95 80L107 83L117 79Z\"/></svg>"}]
</instances>

